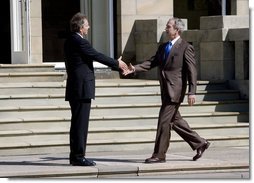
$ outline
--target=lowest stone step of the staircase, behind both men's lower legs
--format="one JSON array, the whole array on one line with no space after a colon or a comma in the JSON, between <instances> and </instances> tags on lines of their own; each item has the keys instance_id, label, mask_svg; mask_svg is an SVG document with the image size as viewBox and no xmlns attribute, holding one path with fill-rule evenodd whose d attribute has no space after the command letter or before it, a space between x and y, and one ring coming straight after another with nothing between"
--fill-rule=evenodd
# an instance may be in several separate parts
<instances>
[{"instance_id":1,"label":"lowest stone step of the staircase, behind both men's lower legs","mask_svg":"<svg viewBox=\"0 0 254 183\"><path fill-rule=\"evenodd\" d=\"M232 146L249 146L248 136L206 136L207 140L212 142L214 147L232 147ZM32 154L48 154L48 153L66 153L69 154L69 144L61 141L48 141L45 142L36 141L34 144L15 142L15 147L3 147L0 150L1 156L6 155L32 155ZM142 145L141 145L142 144ZM170 143L171 147L174 148L189 148L185 141L172 140ZM9 144L10 145L10 144ZM138 141L114 141L114 143L108 142L89 142L87 144L87 153L97 153L97 152L114 152L114 151L140 151L147 150L152 152L154 147L154 140L147 141L147 139L139 139Z\"/></svg>"}]
</instances>

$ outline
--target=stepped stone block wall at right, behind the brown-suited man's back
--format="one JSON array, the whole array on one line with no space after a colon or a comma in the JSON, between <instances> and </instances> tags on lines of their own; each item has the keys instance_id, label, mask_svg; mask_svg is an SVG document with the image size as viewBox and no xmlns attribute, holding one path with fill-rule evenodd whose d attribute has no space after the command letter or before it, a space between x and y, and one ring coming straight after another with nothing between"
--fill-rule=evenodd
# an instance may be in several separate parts
<instances>
[{"instance_id":1,"label":"stepped stone block wall at right, behind the brown-suited man's back","mask_svg":"<svg viewBox=\"0 0 254 183\"><path fill-rule=\"evenodd\" d=\"M249 98L249 16L200 18L200 30L183 37L196 50L199 80L225 80Z\"/></svg>"}]
</instances>

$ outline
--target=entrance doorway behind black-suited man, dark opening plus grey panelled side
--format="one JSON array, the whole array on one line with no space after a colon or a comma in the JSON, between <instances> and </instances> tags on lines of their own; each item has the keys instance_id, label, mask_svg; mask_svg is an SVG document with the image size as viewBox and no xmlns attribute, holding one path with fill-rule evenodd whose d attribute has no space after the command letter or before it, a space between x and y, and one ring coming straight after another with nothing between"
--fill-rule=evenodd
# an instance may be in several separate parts
<instances>
[{"instance_id":1,"label":"entrance doorway behind black-suited man, dark opening plus grey panelled side","mask_svg":"<svg viewBox=\"0 0 254 183\"><path fill-rule=\"evenodd\" d=\"M42 0L43 62L64 62L63 45L69 21L77 12L88 17L91 28L87 39L93 47L114 57L115 3L114 0Z\"/></svg>"}]
</instances>

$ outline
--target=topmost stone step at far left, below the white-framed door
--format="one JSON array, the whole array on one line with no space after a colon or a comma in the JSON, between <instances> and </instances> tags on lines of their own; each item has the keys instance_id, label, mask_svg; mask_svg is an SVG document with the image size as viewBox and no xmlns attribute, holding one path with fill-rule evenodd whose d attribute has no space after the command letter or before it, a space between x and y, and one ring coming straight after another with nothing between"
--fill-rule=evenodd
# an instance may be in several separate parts
<instances>
[{"instance_id":1,"label":"topmost stone step at far left, below the white-framed door","mask_svg":"<svg viewBox=\"0 0 254 183\"><path fill-rule=\"evenodd\" d=\"M0 64L0 73L53 72L53 64Z\"/></svg>"}]
</instances>

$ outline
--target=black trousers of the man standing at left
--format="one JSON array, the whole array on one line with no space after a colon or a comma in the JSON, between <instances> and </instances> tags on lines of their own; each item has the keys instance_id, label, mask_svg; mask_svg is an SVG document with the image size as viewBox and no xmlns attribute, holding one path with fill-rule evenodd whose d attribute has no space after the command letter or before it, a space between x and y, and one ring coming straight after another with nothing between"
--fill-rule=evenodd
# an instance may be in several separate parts
<instances>
[{"instance_id":1,"label":"black trousers of the man standing at left","mask_svg":"<svg viewBox=\"0 0 254 183\"><path fill-rule=\"evenodd\" d=\"M69 101L71 106L70 158L85 156L91 99Z\"/></svg>"}]
</instances>

